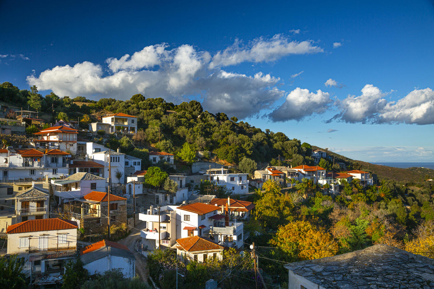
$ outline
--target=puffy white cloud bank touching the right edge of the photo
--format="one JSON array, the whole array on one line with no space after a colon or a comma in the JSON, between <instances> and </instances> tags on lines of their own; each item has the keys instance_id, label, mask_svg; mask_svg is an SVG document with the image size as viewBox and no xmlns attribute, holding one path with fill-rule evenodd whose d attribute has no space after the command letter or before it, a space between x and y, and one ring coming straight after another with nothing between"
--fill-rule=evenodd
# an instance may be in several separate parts
<instances>
[{"instance_id":1,"label":"puffy white cloud bank touching the right edge of the photo","mask_svg":"<svg viewBox=\"0 0 434 289\"><path fill-rule=\"evenodd\" d=\"M379 88L366 84L360 96L349 95L335 104L341 112L332 119L347 123L434 123L434 91L415 89L405 97L388 102Z\"/></svg>"}]
</instances>

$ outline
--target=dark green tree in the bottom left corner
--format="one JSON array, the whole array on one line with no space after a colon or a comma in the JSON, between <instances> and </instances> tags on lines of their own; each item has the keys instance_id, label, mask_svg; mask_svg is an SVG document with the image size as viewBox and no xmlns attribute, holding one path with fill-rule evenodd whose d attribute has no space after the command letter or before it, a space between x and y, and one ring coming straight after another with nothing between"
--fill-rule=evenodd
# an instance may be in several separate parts
<instances>
[{"instance_id":1,"label":"dark green tree in the bottom left corner","mask_svg":"<svg viewBox=\"0 0 434 289\"><path fill-rule=\"evenodd\" d=\"M23 273L24 258L18 255L0 258L0 288L27 288L26 275Z\"/></svg>"}]
</instances>

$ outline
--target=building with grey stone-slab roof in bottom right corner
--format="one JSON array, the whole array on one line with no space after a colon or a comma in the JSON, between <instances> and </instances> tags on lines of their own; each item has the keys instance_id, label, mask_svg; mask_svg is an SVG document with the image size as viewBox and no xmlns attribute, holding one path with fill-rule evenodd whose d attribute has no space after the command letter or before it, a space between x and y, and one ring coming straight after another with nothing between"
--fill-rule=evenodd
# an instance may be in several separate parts
<instances>
[{"instance_id":1,"label":"building with grey stone-slab roof in bottom right corner","mask_svg":"<svg viewBox=\"0 0 434 289\"><path fill-rule=\"evenodd\" d=\"M285 265L289 289L433 288L434 260L378 244Z\"/></svg>"}]
</instances>

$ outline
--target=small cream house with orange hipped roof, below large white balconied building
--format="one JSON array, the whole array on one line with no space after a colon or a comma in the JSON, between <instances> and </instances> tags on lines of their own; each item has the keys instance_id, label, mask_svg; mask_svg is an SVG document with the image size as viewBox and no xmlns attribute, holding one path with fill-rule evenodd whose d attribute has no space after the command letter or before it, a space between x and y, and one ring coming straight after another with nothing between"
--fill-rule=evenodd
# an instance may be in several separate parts
<instances>
[{"instance_id":1,"label":"small cream house with orange hipped roof, below large white balconied building","mask_svg":"<svg viewBox=\"0 0 434 289\"><path fill-rule=\"evenodd\" d=\"M223 246L207 237L191 236L176 240L176 255L184 262L206 262L209 258L222 260Z\"/></svg>"}]
</instances>

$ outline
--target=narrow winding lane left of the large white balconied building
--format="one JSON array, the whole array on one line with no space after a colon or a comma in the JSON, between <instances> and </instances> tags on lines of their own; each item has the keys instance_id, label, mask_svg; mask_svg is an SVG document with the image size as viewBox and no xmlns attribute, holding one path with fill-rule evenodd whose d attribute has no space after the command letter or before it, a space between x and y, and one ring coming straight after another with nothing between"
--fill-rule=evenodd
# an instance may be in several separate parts
<instances>
[{"instance_id":1,"label":"narrow winding lane left of the large white balconied building","mask_svg":"<svg viewBox=\"0 0 434 289\"><path fill-rule=\"evenodd\" d=\"M148 283L149 272L147 260L145 256L141 254L141 251L137 251L137 242L141 240L139 230L144 229L145 227L146 222L141 222L140 224L137 224L135 228L130 228L131 234L129 234L122 240L118 240L117 242L120 244L124 244L128 247L128 249L131 250L131 252L134 254L134 257L136 257L136 274L140 276L143 282Z\"/></svg>"}]
</instances>

